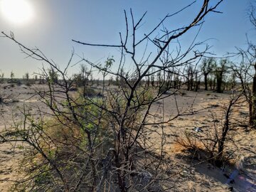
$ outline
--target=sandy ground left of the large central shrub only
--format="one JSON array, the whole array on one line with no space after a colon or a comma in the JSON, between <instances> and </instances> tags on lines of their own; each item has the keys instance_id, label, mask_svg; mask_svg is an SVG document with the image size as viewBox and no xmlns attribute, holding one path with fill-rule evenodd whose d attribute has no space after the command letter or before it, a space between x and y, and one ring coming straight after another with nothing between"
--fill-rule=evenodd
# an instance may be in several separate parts
<instances>
[{"instance_id":1,"label":"sandy ground left of the large central shrub only","mask_svg":"<svg viewBox=\"0 0 256 192\"><path fill-rule=\"evenodd\" d=\"M41 85L36 87L44 88ZM0 86L0 93L6 98L5 102L0 104L0 132L12 129L16 123L21 122L24 106L29 107L33 114L38 113L38 106L41 110L47 110L35 96L33 88L35 87L25 85L11 87L9 84ZM22 176L20 166L23 146L20 142L0 144L0 191L9 191L14 183L12 181Z\"/></svg>"}]
</instances>

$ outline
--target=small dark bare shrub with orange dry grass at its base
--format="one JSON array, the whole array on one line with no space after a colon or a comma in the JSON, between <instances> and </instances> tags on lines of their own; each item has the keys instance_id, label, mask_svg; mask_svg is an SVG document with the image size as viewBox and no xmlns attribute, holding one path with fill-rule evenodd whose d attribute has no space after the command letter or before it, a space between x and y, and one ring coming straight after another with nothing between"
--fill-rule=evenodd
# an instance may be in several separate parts
<instances>
[{"instance_id":1,"label":"small dark bare shrub with orange dry grass at its base","mask_svg":"<svg viewBox=\"0 0 256 192\"><path fill-rule=\"evenodd\" d=\"M223 166L223 163L228 161L229 156L225 151L225 146L233 142L231 133L235 127L238 127L233 111L244 102L241 97L242 92L238 92L237 95L233 94L228 100L228 105L223 105L221 117L215 117L215 112L209 110L213 120L206 127L209 126L210 129L195 127L192 132L186 131L185 137L176 139L176 142L193 154L203 150L205 159L200 160L208 160L216 166Z\"/></svg>"}]
</instances>

